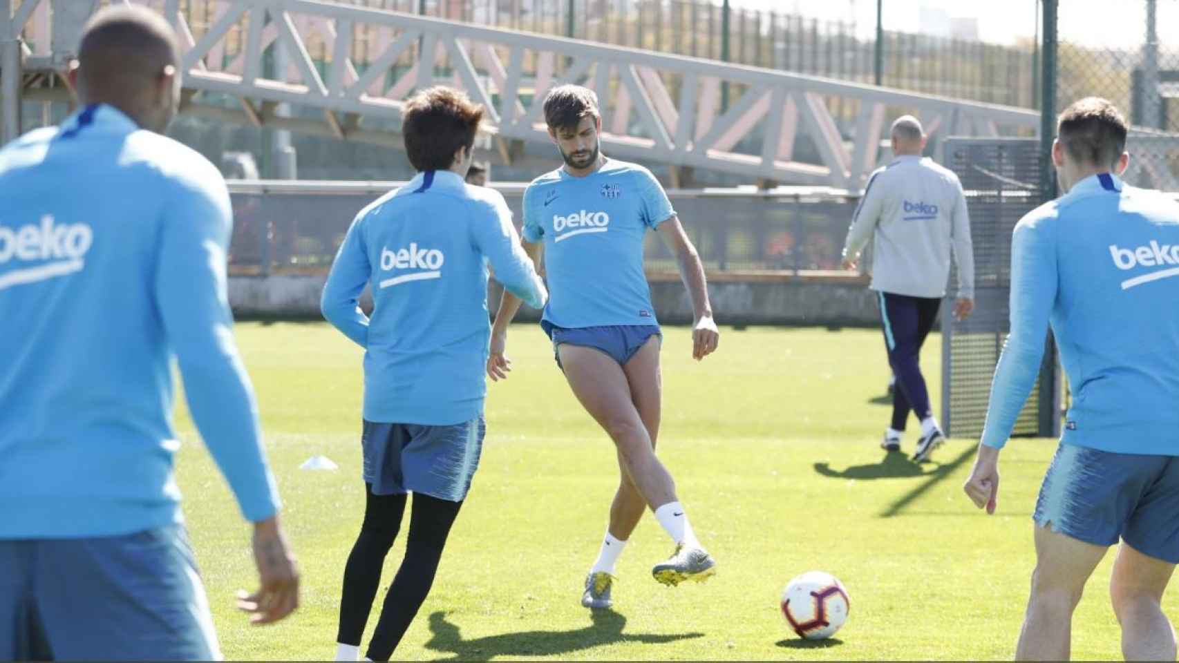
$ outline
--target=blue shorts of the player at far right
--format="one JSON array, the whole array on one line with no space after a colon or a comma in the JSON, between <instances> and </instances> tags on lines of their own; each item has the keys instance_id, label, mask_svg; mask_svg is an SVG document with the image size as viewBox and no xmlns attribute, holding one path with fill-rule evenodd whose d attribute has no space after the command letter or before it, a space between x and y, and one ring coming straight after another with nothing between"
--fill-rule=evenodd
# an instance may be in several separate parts
<instances>
[{"instance_id":1,"label":"blue shorts of the player at far right","mask_svg":"<svg viewBox=\"0 0 1179 663\"><path fill-rule=\"evenodd\" d=\"M1124 539L1179 564L1179 457L1061 443L1036 500L1036 524L1094 545Z\"/></svg>"}]
</instances>

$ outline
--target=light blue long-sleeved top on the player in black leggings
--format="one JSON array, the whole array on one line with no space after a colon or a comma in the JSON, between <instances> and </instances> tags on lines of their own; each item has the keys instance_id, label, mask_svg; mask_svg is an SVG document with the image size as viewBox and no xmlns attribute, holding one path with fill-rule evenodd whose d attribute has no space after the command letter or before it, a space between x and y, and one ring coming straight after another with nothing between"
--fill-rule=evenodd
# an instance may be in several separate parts
<instances>
[{"instance_id":1,"label":"light blue long-sleeved top on the player in black leggings","mask_svg":"<svg viewBox=\"0 0 1179 663\"><path fill-rule=\"evenodd\" d=\"M364 349L364 418L454 425L483 411L487 263L533 307L547 292L493 188L419 173L361 210L323 287L323 317ZM373 318L357 301L373 289Z\"/></svg>"}]
</instances>

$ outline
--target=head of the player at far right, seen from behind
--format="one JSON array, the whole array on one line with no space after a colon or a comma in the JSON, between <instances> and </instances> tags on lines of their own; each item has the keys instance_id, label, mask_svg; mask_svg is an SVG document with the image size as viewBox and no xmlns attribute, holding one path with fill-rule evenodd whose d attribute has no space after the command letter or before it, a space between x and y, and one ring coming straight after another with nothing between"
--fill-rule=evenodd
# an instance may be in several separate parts
<instances>
[{"instance_id":1,"label":"head of the player at far right, seen from behind","mask_svg":"<svg viewBox=\"0 0 1179 663\"><path fill-rule=\"evenodd\" d=\"M1065 108L1052 145L1052 163L1061 190L1068 191L1095 173L1125 172L1129 164L1128 128L1118 107L1100 97L1086 97Z\"/></svg>"}]
</instances>

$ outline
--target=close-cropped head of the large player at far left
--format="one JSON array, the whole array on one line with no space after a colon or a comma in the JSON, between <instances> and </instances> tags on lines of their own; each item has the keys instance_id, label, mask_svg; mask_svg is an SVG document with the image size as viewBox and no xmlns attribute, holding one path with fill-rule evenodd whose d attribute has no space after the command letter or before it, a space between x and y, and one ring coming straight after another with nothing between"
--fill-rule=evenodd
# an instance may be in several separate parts
<instances>
[{"instance_id":1,"label":"close-cropped head of the large player at far left","mask_svg":"<svg viewBox=\"0 0 1179 663\"><path fill-rule=\"evenodd\" d=\"M180 48L164 16L107 7L83 28L70 82L83 105L108 104L163 133L180 106Z\"/></svg>"}]
</instances>

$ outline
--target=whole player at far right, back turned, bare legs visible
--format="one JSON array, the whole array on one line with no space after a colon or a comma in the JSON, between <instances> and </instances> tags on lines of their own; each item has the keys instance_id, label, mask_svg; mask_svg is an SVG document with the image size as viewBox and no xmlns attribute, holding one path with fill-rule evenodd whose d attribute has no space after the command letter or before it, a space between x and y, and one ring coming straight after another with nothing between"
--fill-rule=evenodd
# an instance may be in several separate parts
<instances>
[{"instance_id":1,"label":"whole player at far right, back turned, bare legs visible","mask_svg":"<svg viewBox=\"0 0 1179 663\"><path fill-rule=\"evenodd\" d=\"M1127 661L1174 661L1160 601L1179 563L1179 205L1126 186L1127 125L1094 97L1052 148L1066 193L1012 241L1012 327L964 490L995 510L999 451L1040 372L1049 324L1075 390L1035 508L1036 565L1015 657L1065 661L1073 611L1121 539L1109 595Z\"/></svg>"}]
</instances>

